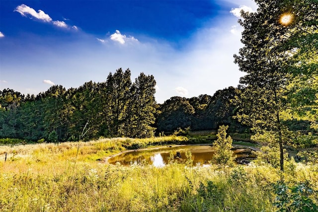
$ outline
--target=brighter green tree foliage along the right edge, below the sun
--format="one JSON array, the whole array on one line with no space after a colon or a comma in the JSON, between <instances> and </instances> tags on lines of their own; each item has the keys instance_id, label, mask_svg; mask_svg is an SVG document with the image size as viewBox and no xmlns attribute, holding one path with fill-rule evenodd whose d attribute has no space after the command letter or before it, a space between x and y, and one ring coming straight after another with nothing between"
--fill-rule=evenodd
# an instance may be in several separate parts
<instances>
[{"instance_id":1,"label":"brighter green tree foliage along the right edge, below the sun","mask_svg":"<svg viewBox=\"0 0 318 212\"><path fill-rule=\"evenodd\" d=\"M290 54L293 82L288 85L290 119L307 120L318 130L318 0L294 0L280 16Z\"/></svg>"}]
</instances>

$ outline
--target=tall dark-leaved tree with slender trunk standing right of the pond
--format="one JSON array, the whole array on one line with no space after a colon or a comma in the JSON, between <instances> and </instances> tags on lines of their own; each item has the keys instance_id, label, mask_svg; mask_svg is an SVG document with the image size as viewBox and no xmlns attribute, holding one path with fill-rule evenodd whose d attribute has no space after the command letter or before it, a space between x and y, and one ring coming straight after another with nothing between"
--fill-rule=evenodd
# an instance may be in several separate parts
<instances>
[{"instance_id":1,"label":"tall dark-leaved tree with slender trunk standing right of the pond","mask_svg":"<svg viewBox=\"0 0 318 212\"><path fill-rule=\"evenodd\" d=\"M280 18L286 11L293 11L294 15L306 16L306 11L313 17L317 17L310 7L317 8L317 0L255 0L258 4L257 12L241 13L243 19L239 23L244 27L241 42L244 47L235 55L235 63L240 71L246 73L240 79L245 84L241 94L238 119L252 126L256 132L255 140L262 140L263 135L274 135L271 141L278 145L280 150L280 169L284 170L283 144L289 142L287 126L282 120L286 119L287 111L291 109L291 94L295 90L289 88L295 79L293 72L295 65L294 52L302 52L297 49L302 47L304 40L292 41L292 30L282 25ZM302 13L298 13L302 11ZM307 14L308 15L308 14ZM317 20L317 18L316 18ZM311 27L317 27L317 21L307 20ZM285 24L286 25L286 24ZM295 23L293 30L302 26ZM305 44L304 44L305 45ZM296 48L296 49L295 49ZM303 49L303 48L301 48ZM300 53L303 55L303 53ZM302 73L306 74L306 73ZM300 80L300 82L303 81ZM317 97L317 96L316 96ZM304 103L304 101L303 101Z\"/></svg>"}]
</instances>

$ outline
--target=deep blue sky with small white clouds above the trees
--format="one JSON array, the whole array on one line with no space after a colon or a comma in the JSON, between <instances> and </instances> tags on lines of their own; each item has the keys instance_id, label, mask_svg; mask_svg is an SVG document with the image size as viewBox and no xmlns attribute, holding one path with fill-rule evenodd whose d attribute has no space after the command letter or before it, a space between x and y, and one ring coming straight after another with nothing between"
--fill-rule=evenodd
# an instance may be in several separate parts
<instances>
[{"instance_id":1,"label":"deep blue sky with small white clouds above the trees","mask_svg":"<svg viewBox=\"0 0 318 212\"><path fill-rule=\"evenodd\" d=\"M156 100L237 86L243 8L252 0L0 0L0 89L21 93L105 81L129 68Z\"/></svg>"}]
</instances>

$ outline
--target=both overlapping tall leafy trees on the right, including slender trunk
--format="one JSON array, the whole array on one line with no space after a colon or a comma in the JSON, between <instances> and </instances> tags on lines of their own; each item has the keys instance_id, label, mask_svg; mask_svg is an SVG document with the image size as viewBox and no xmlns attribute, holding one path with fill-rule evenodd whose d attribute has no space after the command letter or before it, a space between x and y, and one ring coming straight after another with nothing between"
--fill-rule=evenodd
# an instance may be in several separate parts
<instances>
[{"instance_id":1,"label":"both overlapping tall leafy trees on the right, including slender trunk","mask_svg":"<svg viewBox=\"0 0 318 212\"><path fill-rule=\"evenodd\" d=\"M283 121L293 117L313 123L317 120L313 118L317 114L318 97L317 54L314 54L317 47L311 42L315 43L318 36L318 5L311 0L256 0L256 3L257 12L242 12L239 20L244 27L241 39L244 47L235 55L235 63L246 75L240 79L245 87L237 99L237 118L258 135L270 133L275 137L272 141L278 143L283 171L283 145L291 137ZM292 11L295 20L284 26L279 20L286 10ZM304 31L308 33L305 35ZM308 55L314 57L308 59Z\"/></svg>"}]
</instances>

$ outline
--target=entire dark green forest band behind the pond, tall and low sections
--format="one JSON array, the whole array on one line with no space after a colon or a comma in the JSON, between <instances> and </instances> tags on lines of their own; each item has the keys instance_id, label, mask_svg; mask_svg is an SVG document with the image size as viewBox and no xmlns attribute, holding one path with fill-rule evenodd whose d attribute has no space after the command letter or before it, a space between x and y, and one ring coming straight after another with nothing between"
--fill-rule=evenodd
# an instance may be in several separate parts
<instances>
[{"instance_id":1,"label":"entire dark green forest band behind the pond, tall and low sections","mask_svg":"<svg viewBox=\"0 0 318 212\"><path fill-rule=\"evenodd\" d=\"M177 129L248 130L232 117L238 88L218 90L213 96L174 96L155 101L154 76L141 73L131 81L129 69L109 73L105 82L65 89L54 85L46 92L23 95L0 91L0 138L30 141L78 141L99 137L147 138Z\"/></svg>"}]
</instances>

